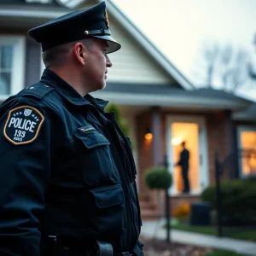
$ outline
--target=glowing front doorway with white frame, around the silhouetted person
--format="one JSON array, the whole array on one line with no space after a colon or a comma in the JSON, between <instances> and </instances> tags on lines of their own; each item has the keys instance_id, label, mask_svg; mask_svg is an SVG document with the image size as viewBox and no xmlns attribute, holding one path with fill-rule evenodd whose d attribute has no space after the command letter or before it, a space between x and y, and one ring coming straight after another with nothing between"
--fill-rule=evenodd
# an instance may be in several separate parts
<instances>
[{"instance_id":1,"label":"glowing front doorway with white frame, around the silhouetted person","mask_svg":"<svg viewBox=\"0 0 256 256\"><path fill-rule=\"evenodd\" d=\"M183 143L189 151L189 187L191 195L199 195L208 185L207 132L203 117L169 116L167 119L168 169L172 173L172 195L184 189L182 166L175 166L181 159Z\"/></svg>"}]
</instances>

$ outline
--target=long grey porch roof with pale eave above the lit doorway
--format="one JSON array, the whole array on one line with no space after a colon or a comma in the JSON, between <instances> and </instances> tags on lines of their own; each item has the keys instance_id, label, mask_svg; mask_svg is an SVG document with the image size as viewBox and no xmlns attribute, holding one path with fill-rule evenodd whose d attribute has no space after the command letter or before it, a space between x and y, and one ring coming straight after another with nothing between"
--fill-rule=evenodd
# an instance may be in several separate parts
<instances>
[{"instance_id":1,"label":"long grey porch roof with pale eave above the lit doorway","mask_svg":"<svg viewBox=\"0 0 256 256\"><path fill-rule=\"evenodd\" d=\"M252 103L222 90L182 90L168 84L120 84L108 83L104 90L93 96L124 106L202 110L244 110Z\"/></svg>"}]
</instances>

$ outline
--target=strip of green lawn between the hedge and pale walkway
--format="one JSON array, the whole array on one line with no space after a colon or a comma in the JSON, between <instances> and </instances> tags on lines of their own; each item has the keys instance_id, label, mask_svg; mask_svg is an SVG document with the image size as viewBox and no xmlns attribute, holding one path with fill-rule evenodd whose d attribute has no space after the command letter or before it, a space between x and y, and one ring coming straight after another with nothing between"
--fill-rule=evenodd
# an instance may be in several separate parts
<instances>
[{"instance_id":1,"label":"strip of green lawn between the hedge and pale walkway","mask_svg":"<svg viewBox=\"0 0 256 256\"><path fill-rule=\"evenodd\" d=\"M201 233L206 235L217 236L218 231L216 226L191 226L188 224L188 219L181 218L172 221L171 228L175 230L184 230L189 232ZM224 227L224 236L247 241L256 241L256 229L250 228L226 228Z\"/></svg>"}]
</instances>

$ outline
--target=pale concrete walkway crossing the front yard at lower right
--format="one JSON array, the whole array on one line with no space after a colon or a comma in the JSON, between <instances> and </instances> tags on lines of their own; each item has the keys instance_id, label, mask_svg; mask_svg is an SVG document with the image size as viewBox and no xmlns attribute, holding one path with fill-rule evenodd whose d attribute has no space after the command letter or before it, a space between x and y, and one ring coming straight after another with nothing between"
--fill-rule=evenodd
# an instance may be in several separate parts
<instances>
[{"instance_id":1,"label":"pale concrete walkway crossing the front yard at lower right","mask_svg":"<svg viewBox=\"0 0 256 256\"><path fill-rule=\"evenodd\" d=\"M142 236L166 239L166 230L161 228L164 222L143 221ZM216 236L201 235L181 230L171 231L171 240L191 245L215 247L226 249L236 253L256 255L256 242L243 241L231 238L218 238Z\"/></svg>"}]
</instances>

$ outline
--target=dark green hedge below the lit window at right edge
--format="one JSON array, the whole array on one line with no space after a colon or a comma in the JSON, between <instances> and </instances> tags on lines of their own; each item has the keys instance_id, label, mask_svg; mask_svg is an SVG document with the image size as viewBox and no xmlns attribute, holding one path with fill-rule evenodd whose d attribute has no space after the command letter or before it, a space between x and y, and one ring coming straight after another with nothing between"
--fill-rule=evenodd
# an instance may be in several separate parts
<instances>
[{"instance_id":1,"label":"dark green hedge below the lit window at right edge","mask_svg":"<svg viewBox=\"0 0 256 256\"><path fill-rule=\"evenodd\" d=\"M256 224L256 181L228 180L221 183L222 215L224 224ZM203 201L211 201L217 209L216 186L201 194Z\"/></svg>"}]
</instances>

